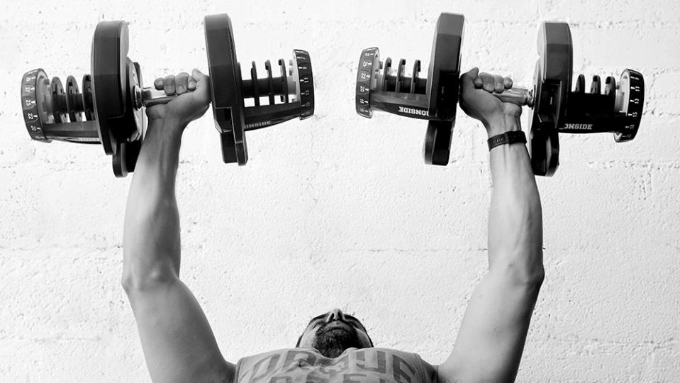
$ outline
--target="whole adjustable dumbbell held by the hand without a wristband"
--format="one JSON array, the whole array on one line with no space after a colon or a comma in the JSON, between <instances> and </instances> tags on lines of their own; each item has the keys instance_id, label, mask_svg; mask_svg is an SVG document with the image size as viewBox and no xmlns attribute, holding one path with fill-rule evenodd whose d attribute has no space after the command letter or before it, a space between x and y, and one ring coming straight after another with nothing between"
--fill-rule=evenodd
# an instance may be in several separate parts
<instances>
[{"instance_id":1,"label":"whole adjustable dumbbell held by the hand without a wristband","mask_svg":"<svg viewBox=\"0 0 680 383\"><path fill-rule=\"evenodd\" d=\"M224 162L247 162L245 131L265 128L292 118L313 115L314 89L311 60L304 50L294 50L286 72L257 77L255 62L250 79L242 79L236 60L231 21L226 14L205 18L211 101L216 128L221 135ZM21 99L26 128L33 140L95 143L113 156L113 172L125 177L133 172L145 128L145 106L164 104L174 96L142 85L140 65L128 55L128 27L123 21L97 25L92 41L91 75L74 77L66 87L58 77L51 81L42 69L23 75ZM260 97L267 98L262 104ZM253 99L253 106L245 106ZM277 101L278 99L278 101Z\"/></svg>"}]
</instances>

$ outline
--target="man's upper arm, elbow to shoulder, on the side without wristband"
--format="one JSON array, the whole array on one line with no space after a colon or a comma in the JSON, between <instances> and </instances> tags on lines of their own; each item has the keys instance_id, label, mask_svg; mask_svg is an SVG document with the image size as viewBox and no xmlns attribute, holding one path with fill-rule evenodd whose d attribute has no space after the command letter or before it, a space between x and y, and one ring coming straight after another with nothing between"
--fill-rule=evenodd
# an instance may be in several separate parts
<instances>
[{"instance_id":1,"label":"man's upper arm, elbow to shoulder, on the side without wristband","mask_svg":"<svg viewBox=\"0 0 680 383\"><path fill-rule=\"evenodd\" d=\"M127 292L154 382L233 381L234 365L222 357L205 313L182 281Z\"/></svg>"}]
</instances>

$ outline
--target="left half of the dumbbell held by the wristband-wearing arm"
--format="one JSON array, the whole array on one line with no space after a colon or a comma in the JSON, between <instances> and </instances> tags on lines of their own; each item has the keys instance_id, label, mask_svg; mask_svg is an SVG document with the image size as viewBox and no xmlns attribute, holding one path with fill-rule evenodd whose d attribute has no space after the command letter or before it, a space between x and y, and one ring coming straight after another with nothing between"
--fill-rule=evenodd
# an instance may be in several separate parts
<instances>
[{"instance_id":1,"label":"left half of the dumbbell held by the wristband-wearing arm","mask_svg":"<svg viewBox=\"0 0 680 383\"><path fill-rule=\"evenodd\" d=\"M458 102L462 16L442 13L435 27L435 38L428 77L420 77L420 60L406 76L406 60L399 60L396 71L392 60L381 61L378 48L364 49L357 71L356 109L372 118L374 110L428 120L423 145L425 163L447 165Z\"/></svg>"}]
</instances>

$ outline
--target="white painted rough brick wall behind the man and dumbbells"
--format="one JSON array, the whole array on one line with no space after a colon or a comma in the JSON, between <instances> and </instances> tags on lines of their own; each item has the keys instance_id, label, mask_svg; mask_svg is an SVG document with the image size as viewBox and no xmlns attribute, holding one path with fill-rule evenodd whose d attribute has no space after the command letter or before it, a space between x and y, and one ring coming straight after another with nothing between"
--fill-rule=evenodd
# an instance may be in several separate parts
<instances>
[{"instance_id":1,"label":"white painted rough brick wall behind the man and dumbbells","mask_svg":"<svg viewBox=\"0 0 680 383\"><path fill-rule=\"evenodd\" d=\"M466 16L465 69L527 84L540 21L560 20L577 72L645 75L638 138L563 135L562 166L538 180L547 277L518 381L679 381L674 0L12 1L0 14L0 381L149 379L119 284L130 177L113 177L101 147L30 141L21 74L81 77L94 26L113 19L129 21L147 83L207 70L201 22L222 12L241 62L308 50L317 101L313 118L250 133L246 167L221 163L210 113L184 135L182 277L223 354L292 346L309 317L340 306L378 345L442 362L486 268L484 132L459 112L452 164L428 167L425 123L367 120L353 104L361 50L428 62L441 11Z\"/></svg>"}]
</instances>

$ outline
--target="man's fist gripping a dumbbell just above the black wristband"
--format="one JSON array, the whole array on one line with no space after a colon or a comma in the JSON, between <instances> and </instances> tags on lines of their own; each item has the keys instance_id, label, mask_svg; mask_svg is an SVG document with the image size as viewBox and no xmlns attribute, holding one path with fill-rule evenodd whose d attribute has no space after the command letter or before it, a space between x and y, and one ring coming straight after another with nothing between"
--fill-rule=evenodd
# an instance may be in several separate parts
<instances>
[{"instance_id":1,"label":"man's fist gripping a dumbbell just above the black wristband","mask_svg":"<svg viewBox=\"0 0 680 383\"><path fill-rule=\"evenodd\" d=\"M522 108L502 102L493 95L511 87L513 80L510 77L479 73L479 69L473 68L460 77L460 107L468 116L484 124L489 137L515 130Z\"/></svg>"}]
</instances>

